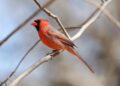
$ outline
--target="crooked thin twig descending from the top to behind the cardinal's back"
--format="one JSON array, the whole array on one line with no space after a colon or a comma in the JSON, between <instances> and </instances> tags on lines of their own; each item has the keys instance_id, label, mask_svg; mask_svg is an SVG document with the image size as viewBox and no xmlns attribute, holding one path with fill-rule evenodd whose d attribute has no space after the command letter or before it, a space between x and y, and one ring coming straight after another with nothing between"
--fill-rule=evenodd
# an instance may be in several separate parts
<instances>
[{"instance_id":1,"label":"crooked thin twig descending from the top to behind the cardinal's back","mask_svg":"<svg viewBox=\"0 0 120 86\"><path fill-rule=\"evenodd\" d=\"M43 8L43 7L39 4L39 2L38 2L37 0L34 0L34 2L35 2L35 3L37 4L37 6L38 6L40 9L42 9L47 15L49 15L50 17L54 18L54 19L57 21L58 25L61 27L61 29L63 30L64 34L70 39L70 36L69 36L69 34L67 33L67 31L66 31L65 27L63 26L62 22L60 21L60 19L59 19L55 14L53 14L52 12L50 12L48 9Z\"/></svg>"}]
</instances>

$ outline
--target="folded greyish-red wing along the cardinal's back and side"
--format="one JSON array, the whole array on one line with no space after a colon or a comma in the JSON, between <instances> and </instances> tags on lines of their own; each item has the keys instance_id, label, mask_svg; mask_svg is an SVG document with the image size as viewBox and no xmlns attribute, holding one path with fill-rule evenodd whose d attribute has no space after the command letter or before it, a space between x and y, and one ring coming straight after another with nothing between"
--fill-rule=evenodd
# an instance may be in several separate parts
<instances>
[{"instance_id":1,"label":"folded greyish-red wing along the cardinal's back and side","mask_svg":"<svg viewBox=\"0 0 120 86\"><path fill-rule=\"evenodd\" d=\"M63 44L74 47L75 44L69 40L64 34L60 33L59 31L48 29L47 31L48 36L54 37L59 39Z\"/></svg>"}]
</instances>

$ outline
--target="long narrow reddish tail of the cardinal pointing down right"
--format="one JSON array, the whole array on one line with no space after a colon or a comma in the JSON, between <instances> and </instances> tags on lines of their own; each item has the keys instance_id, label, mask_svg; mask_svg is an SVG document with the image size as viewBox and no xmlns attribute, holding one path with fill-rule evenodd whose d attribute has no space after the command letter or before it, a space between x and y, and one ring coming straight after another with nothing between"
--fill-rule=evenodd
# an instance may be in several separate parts
<instances>
[{"instance_id":1,"label":"long narrow reddish tail of the cardinal pointing down right","mask_svg":"<svg viewBox=\"0 0 120 86\"><path fill-rule=\"evenodd\" d=\"M93 69L88 65L88 63L77 53L77 51L75 49L73 49L72 47L67 47L66 48L68 52L74 54L75 56L78 57L78 59L80 59L86 66L87 68L94 73Z\"/></svg>"}]
</instances>

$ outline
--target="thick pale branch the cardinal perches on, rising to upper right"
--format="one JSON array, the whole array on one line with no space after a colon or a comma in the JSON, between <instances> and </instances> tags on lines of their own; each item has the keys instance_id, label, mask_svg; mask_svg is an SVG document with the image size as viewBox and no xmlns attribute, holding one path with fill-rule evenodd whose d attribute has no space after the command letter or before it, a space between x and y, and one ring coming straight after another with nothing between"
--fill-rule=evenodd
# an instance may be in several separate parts
<instances>
[{"instance_id":1,"label":"thick pale branch the cardinal perches on, rising to upper right","mask_svg":"<svg viewBox=\"0 0 120 86\"><path fill-rule=\"evenodd\" d=\"M107 1L107 2L105 2L105 3L108 4L109 2ZM101 6L101 8L104 9L104 8L107 6L107 4L103 4L103 5ZM72 37L72 40L75 40L75 39L79 38L79 37L83 34L83 32L86 30L86 28L88 28L88 26L90 26L90 25L98 18L98 16L100 15L100 13L101 13L101 10L98 11L98 12L95 14L95 16L93 16L93 17L82 27L82 29L79 30L79 32L78 32L75 36ZM34 71L37 67L39 67L41 64L49 61L49 60L50 60L52 57L54 57L54 56L56 56L56 54L54 55L54 53L53 53L53 55L48 55L48 56L46 56L46 57L41 58L38 62L36 62L36 63L33 64L32 66L30 66L25 72L23 72L23 73L22 73L21 75L19 75L15 80L13 80L13 81L10 83L9 86L16 86L21 80L23 80L26 76L28 76L28 75L29 75L32 71Z\"/></svg>"}]
</instances>

